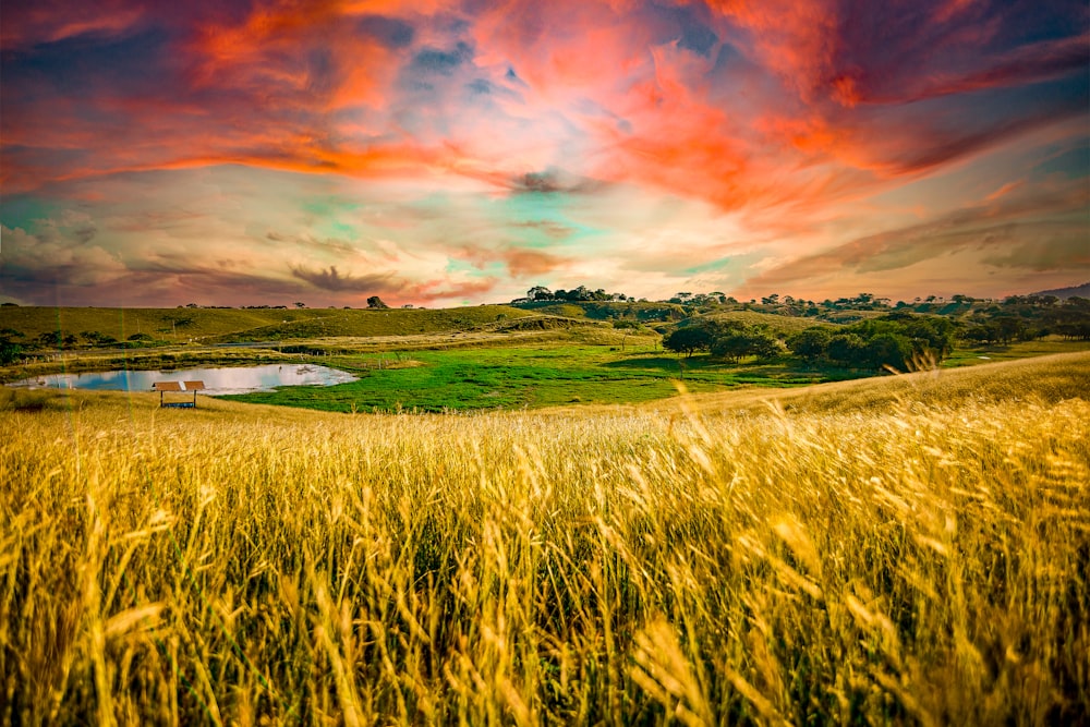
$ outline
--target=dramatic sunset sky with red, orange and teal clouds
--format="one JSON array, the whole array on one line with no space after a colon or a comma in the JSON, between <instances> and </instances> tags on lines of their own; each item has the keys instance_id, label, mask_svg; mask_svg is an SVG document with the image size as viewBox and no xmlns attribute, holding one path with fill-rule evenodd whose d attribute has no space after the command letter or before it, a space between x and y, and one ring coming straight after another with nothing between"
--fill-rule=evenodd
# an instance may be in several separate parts
<instances>
[{"instance_id":1,"label":"dramatic sunset sky with red, orange and teal clouds","mask_svg":"<svg viewBox=\"0 0 1090 727\"><path fill-rule=\"evenodd\" d=\"M1090 280L1085 0L0 0L0 300Z\"/></svg>"}]
</instances>

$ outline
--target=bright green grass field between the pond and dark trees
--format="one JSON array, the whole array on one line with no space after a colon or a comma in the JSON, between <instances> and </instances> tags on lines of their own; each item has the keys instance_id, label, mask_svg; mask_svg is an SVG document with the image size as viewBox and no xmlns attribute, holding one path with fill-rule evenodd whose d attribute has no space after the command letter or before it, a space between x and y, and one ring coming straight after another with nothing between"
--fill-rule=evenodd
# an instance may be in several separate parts
<instances>
[{"instance_id":1,"label":"bright green grass field between the pond and dark trees","mask_svg":"<svg viewBox=\"0 0 1090 727\"><path fill-rule=\"evenodd\" d=\"M403 362L389 354L335 356L329 365L352 371L360 379L331 387L283 387L272 393L231 398L342 412L441 412L649 401L673 396L682 376L693 391L752 385L802 386L852 377L850 372L813 372L784 364L734 366L707 356L679 361L673 354L654 351L646 339L633 340L640 344L629 343L627 351L619 346L550 341L534 347L414 351L404 354ZM391 365L378 368L379 359Z\"/></svg>"}]
</instances>

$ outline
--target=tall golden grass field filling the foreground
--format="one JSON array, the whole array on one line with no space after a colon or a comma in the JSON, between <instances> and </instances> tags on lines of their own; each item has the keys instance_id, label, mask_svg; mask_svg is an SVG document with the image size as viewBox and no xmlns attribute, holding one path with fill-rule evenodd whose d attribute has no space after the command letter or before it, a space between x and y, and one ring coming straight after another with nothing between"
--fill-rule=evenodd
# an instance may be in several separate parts
<instances>
[{"instance_id":1,"label":"tall golden grass field filling the foreground","mask_svg":"<svg viewBox=\"0 0 1090 727\"><path fill-rule=\"evenodd\" d=\"M1088 390L1087 354L477 415L0 390L0 722L1085 724Z\"/></svg>"}]
</instances>

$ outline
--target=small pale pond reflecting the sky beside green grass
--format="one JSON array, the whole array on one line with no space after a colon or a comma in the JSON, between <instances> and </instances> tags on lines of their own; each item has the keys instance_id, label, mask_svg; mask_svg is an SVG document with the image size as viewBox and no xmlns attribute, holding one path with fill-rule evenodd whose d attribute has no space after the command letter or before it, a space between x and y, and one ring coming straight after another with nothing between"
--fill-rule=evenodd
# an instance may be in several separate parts
<instances>
[{"instance_id":1,"label":"small pale pond reflecting the sky beside green grass","mask_svg":"<svg viewBox=\"0 0 1090 727\"><path fill-rule=\"evenodd\" d=\"M87 374L50 374L25 378L8 386L109 391L150 391L155 381L204 381L201 393L252 393L278 386L332 386L354 381L355 376L313 364L266 364L220 368L172 371L105 371Z\"/></svg>"}]
</instances>

